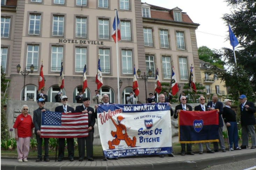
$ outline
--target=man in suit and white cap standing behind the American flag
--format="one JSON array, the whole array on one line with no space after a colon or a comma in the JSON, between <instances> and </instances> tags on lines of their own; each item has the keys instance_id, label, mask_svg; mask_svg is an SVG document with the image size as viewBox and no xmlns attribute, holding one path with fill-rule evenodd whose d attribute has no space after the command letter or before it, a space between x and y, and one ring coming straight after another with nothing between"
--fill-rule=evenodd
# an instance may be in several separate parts
<instances>
[{"instance_id":1,"label":"man in suit and white cap standing behind the American flag","mask_svg":"<svg viewBox=\"0 0 256 170\"><path fill-rule=\"evenodd\" d=\"M67 106L68 98L67 96L61 96L60 102L62 103L61 106L57 106L55 108L55 112L64 112L66 114L68 113L74 113L74 108ZM58 156L58 162L63 161L64 159L64 151L65 151L65 138L59 138L59 156ZM67 138L67 151L68 151L68 159L70 161L74 161L74 138Z\"/></svg>"}]
</instances>

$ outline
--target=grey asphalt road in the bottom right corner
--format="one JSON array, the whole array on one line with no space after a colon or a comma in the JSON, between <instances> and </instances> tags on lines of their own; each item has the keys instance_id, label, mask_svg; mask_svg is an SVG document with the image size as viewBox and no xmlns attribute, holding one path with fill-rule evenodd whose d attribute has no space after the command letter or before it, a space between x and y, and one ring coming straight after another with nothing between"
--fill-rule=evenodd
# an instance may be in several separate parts
<instances>
[{"instance_id":1,"label":"grey asphalt road in the bottom right corner","mask_svg":"<svg viewBox=\"0 0 256 170\"><path fill-rule=\"evenodd\" d=\"M256 158L226 163L222 165L215 165L203 170L256 170Z\"/></svg>"}]
</instances>

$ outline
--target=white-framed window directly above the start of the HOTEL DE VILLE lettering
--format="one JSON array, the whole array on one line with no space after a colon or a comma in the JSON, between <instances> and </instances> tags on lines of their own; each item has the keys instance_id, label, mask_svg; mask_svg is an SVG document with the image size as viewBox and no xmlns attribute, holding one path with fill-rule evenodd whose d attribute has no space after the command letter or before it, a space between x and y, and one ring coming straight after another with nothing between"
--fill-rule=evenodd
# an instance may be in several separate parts
<instances>
[{"instance_id":1,"label":"white-framed window directly above the start of the HOTEL DE VILLE lettering","mask_svg":"<svg viewBox=\"0 0 256 170\"><path fill-rule=\"evenodd\" d=\"M52 35L64 35L64 16L53 16Z\"/></svg>"}]
</instances>

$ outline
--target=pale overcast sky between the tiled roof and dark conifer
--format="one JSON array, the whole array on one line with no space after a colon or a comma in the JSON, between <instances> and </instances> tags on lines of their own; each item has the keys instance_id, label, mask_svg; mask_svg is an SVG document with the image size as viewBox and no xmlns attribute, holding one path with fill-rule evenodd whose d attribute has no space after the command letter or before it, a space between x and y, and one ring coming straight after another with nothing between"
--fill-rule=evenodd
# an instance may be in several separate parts
<instances>
[{"instance_id":1,"label":"pale overcast sky between the tiled roof and dark conifer","mask_svg":"<svg viewBox=\"0 0 256 170\"><path fill-rule=\"evenodd\" d=\"M141 0L152 5L173 9L179 7L189 15L194 23L200 24L196 30L197 46L210 49L231 48L228 26L221 19L223 14L230 13L230 7L223 0Z\"/></svg>"}]
</instances>

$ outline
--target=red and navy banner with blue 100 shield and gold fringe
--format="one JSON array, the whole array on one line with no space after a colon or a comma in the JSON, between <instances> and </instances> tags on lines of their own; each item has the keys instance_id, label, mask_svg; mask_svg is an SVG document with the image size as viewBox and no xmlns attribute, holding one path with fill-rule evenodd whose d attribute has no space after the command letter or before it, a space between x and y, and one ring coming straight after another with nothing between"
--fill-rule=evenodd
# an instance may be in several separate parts
<instances>
[{"instance_id":1,"label":"red and navy banner with blue 100 shield and gold fringe","mask_svg":"<svg viewBox=\"0 0 256 170\"><path fill-rule=\"evenodd\" d=\"M205 143L219 141L219 112L181 111L179 113L179 141Z\"/></svg>"}]
</instances>

